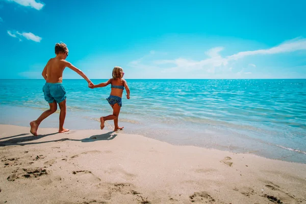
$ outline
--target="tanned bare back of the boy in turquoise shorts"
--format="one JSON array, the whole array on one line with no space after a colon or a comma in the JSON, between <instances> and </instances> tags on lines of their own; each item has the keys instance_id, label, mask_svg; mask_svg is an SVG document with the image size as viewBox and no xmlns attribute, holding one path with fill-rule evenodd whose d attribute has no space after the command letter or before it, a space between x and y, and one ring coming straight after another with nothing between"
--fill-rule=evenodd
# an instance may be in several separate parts
<instances>
[{"instance_id":1,"label":"tanned bare back of the boy in turquoise shorts","mask_svg":"<svg viewBox=\"0 0 306 204\"><path fill-rule=\"evenodd\" d=\"M47 83L62 83L63 71L67 66L67 61L58 58L51 58L46 64Z\"/></svg>"}]
</instances>

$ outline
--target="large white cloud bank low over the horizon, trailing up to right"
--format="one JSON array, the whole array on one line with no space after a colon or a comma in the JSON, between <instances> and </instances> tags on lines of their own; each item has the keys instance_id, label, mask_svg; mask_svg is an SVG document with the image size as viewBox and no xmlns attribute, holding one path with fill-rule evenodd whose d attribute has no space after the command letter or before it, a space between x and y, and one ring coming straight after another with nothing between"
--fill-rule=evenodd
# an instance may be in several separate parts
<instances>
[{"instance_id":1,"label":"large white cloud bank low over the horizon, trailing up to right","mask_svg":"<svg viewBox=\"0 0 306 204\"><path fill-rule=\"evenodd\" d=\"M159 70L159 73L162 72L161 76L168 76L170 74L170 78L190 78L195 73L194 78L200 78L201 76L205 78L213 77L214 79L241 78L246 75L258 77L259 75L252 71L257 67L256 64L244 64L244 61L239 62L238 60L252 55L276 55L278 53L306 50L306 39L293 39L271 48L239 52L228 56L221 56L220 52L223 49L223 47L209 49L205 53L206 57L203 56L202 60L184 57L171 59L167 57L169 55L160 55L158 51L149 52L147 55L130 62L129 66L137 68L137 70L147 70L148 72L152 70L150 74L154 74ZM162 77L158 76L157 78Z\"/></svg>"}]
</instances>

